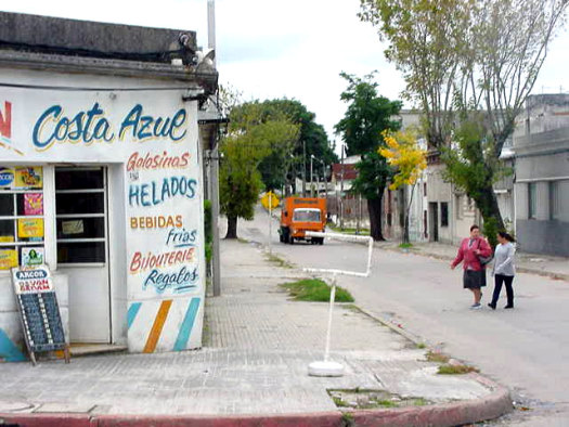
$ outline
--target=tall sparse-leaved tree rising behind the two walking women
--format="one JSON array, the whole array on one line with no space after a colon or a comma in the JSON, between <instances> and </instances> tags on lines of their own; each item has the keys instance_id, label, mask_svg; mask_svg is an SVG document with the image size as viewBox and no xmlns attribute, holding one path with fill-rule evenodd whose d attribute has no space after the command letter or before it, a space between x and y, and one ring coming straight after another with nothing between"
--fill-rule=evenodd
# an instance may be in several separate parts
<instances>
[{"instance_id":1,"label":"tall sparse-leaved tree rising behind the two walking women","mask_svg":"<svg viewBox=\"0 0 569 427\"><path fill-rule=\"evenodd\" d=\"M493 184L500 155L565 21L568 0L361 0L386 56L403 73L405 96L425 114L429 147L470 196L489 229L504 229ZM462 129L461 129L462 128ZM473 133L474 132L474 133ZM452 142L468 152L457 158ZM484 173L464 174L464 164ZM468 181L465 181L466 178ZM488 228L486 225L489 225Z\"/></svg>"}]
</instances>

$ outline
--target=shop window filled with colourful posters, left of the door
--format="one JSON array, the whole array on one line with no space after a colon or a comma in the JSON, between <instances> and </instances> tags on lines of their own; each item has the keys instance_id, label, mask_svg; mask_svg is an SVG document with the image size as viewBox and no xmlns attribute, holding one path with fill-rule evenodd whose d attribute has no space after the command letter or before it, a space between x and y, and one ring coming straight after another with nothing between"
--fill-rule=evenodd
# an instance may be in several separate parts
<instances>
[{"instance_id":1,"label":"shop window filled with colourful posters, left of the door","mask_svg":"<svg viewBox=\"0 0 569 427\"><path fill-rule=\"evenodd\" d=\"M0 167L0 270L44 262L43 170Z\"/></svg>"}]
</instances>

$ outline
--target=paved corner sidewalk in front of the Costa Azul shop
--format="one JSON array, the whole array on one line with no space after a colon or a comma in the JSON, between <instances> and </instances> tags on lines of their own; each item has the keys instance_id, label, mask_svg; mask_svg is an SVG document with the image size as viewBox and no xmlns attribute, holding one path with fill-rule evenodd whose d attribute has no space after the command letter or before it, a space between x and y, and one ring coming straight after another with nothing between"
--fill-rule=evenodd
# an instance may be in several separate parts
<instances>
[{"instance_id":1,"label":"paved corner sidewalk in front of the Costa Azul shop","mask_svg":"<svg viewBox=\"0 0 569 427\"><path fill-rule=\"evenodd\" d=\"M254 244L223 241L222 296L208 298L204 348L0 364L0 425L453 426L507 412L507 390L478 374L438 375L426 350L350 305L334 312L338 378L322 360L327 305L290 301L280 283L306 276ZM336 407L327 390L385 390L422 405ZM348 415L346 415L348 413Z\"/></svg>"}]
</instances>

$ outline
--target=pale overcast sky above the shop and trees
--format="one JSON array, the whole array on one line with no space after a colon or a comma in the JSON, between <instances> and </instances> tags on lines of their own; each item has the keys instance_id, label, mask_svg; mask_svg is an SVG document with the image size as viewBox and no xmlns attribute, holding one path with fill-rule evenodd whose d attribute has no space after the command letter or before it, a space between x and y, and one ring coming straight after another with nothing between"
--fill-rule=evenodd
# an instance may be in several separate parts
<instances>
[{"instance_id":1,"label":"pale overcast sky above the shop and trees","mask_svg":"<svg viewBox=\"0 0 569 427\"><path fill-rule=\"evenodd\" d=\"M245 100L296 99L316 114L333 140L346 104L340 72L363 76L378 70L379 93L397 99L399 73L384 57L376 31L361 23L360 0L217 0L217 57L221 83ZM1 10L197 31L207 47L207 0L63 1L3 0ZM534 92L569 91L564 31L551 46ZM46 41L49 43L49 40Z\"/></svg>"}]
</instances>

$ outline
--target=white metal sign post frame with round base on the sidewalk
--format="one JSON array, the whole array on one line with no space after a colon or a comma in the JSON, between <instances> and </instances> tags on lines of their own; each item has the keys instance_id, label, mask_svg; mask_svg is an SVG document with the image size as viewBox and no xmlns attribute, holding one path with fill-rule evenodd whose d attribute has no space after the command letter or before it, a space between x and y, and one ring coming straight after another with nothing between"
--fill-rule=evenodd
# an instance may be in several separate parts
<instances>
[{"instance_id":1,"label":"white metal sign post frame with round base on the sidewalk","mask_svg":"<svg viewBox=\"0 0 569 427\"><path fill-rule=\"evenodd\" d=\"M334 311L334 299L336 298L336 276L338 274L354 275L359 277L367 277L372 271L372 251L374 247L374 241L370 236L354 236L349 234L339 233L319 233L307 231L309 237L328 237L339 241L348 242L367 242L367 268L365 273L349 271L349 270L337 270L337 269L311 269L307 268L303 271L309 273L332 273L332 289L329 293L329 309L328 309L328 325L326 329L326 347L324 349L324 360L312 362L308 365L308 375L311 376L342 376L344 365L338 362L329 360L329 342L332 339L332 313Z\"/></svg>"}]
</instances>

